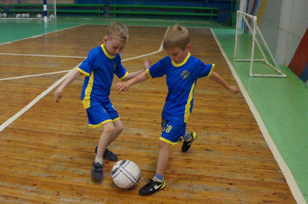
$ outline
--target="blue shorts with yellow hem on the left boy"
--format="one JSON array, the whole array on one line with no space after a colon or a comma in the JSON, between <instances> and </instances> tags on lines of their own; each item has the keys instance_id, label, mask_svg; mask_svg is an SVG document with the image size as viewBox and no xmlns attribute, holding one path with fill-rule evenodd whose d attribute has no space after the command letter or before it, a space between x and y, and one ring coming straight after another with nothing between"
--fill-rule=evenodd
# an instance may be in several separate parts
<instances>
[{"instance_id":1,"label":"blue shorts with yellow hem on the left boy","mask_svg":"<svg viewBox=\"0 0 308 204\"><path fill-rule=\"evenodd\" d=\"M98 128L107 122L120 120L118 112L113 108L111 102L107 105L103 105L99 102L91 101L91 106L86 110L89 126L92 128Z\"/></svg>"}]
</instances>

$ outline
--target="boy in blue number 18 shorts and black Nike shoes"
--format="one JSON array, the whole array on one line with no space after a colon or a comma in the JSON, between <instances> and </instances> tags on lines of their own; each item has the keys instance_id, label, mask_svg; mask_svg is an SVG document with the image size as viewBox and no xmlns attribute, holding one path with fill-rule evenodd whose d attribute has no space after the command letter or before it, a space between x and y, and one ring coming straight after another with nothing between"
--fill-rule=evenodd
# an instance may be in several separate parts
<instances>
[{"instance_id":1,"label":"boy in blue number 18 shorts and black Nike shoes","mask_svg":"<svg viewBox=\"0 0 308 204\"><path fill-rule=\"evenodd\" d=\"M168 95L162 112L162 133L158 141L156 173L153 179L148 179L148 183L139 190L140 195L150 195L165 187L164 171L169 160L170 144L175 145L184 139L182 151L186 152L197 138L196 132L186 131L186 123L193 108L193 92L197 79L208 77L231 93L240 92L237 87L230 86L213 71L214 64L205 65L193 57L189 53L190 47L187 29L179 25L172 26L163 42L168 56L152 65L146 72L115 86L118 92L126 91L132 84L166 75Z\"/></svg>"}]
</instances>

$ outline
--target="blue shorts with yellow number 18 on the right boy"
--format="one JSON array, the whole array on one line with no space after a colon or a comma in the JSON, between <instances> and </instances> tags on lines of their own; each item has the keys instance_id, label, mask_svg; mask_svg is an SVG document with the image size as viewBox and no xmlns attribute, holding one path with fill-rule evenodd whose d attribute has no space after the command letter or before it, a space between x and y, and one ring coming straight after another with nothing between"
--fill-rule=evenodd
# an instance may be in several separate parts
<instances>
[{"instance_id":1,"label":"blue shorts with yellow number 18 on the right boy","mask_svg":"<svg viewBox=\"0 0 308 204\"><path fill-rule=\"evenodd\" d=\"M161 127L163 132L160 135L160 140L169 143L181 143L186 132L186 123L177 120L162 119Z\"/></svg>"}]
</instances>

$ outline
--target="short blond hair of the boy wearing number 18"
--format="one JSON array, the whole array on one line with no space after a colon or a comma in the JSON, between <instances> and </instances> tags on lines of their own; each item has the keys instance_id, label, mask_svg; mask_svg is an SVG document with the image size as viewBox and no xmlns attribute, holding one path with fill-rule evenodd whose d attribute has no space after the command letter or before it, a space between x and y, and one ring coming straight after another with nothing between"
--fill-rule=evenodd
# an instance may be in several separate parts
<instances>
[{"instance_id":1,"label":"short blond hair of the boy wearing number 18","mask_svg":"<svg viewBox=\"0 0 308 204\"><path fill-rule=\"evenodd\" d=\"M184 51L188 44L190 44L188 30L185 27L176 24L166 33L163 41L163 48L169 49L179 47Z\"/></svg>"}]
</instances>

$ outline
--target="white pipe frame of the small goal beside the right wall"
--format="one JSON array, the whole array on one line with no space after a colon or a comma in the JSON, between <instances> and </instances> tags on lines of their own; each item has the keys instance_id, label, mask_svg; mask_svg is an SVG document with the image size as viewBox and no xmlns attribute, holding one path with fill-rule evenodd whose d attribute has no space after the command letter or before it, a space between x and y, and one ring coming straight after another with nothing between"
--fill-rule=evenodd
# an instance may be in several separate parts
<instances>
[{"instance_id":1,"label":"white pipe frame of the small goal beside the right wall","mask_svg":"<svg viewBox=\"0 0 308 204\"><path fill-rule=\"evenodd\" d=\"M244 21L243 21L244 20ZM251 58L250 59L238 59L237 58L237 49L238 49L238 32L241 28L243 28L243 33L249 29L251 35L252 35L252 48L251 48ZM260 36L261 41L263 42L267 52L269 53L274 65L272 65L266 58L261 45L259 41L257 40L257 35ZM259 48L262 59L254 59L254 49L255 44L257 44L257 47ZM286 78L286 75L281 72L279 69L273 54L271 53L268 45L266 44L264 37L261 34L261 31L257 25L257 17L253 15L246 14L242 11L237 11L237 21L236 21L236 34L235 34L235 48L234 48L234 61L250 61L250 71L249 76L250 77L283 77ZM253 62L255 61L262 61L266 65L270 66L272 69L274 69L278 74L253 74Z\"/></svg>"}]
</instances>

